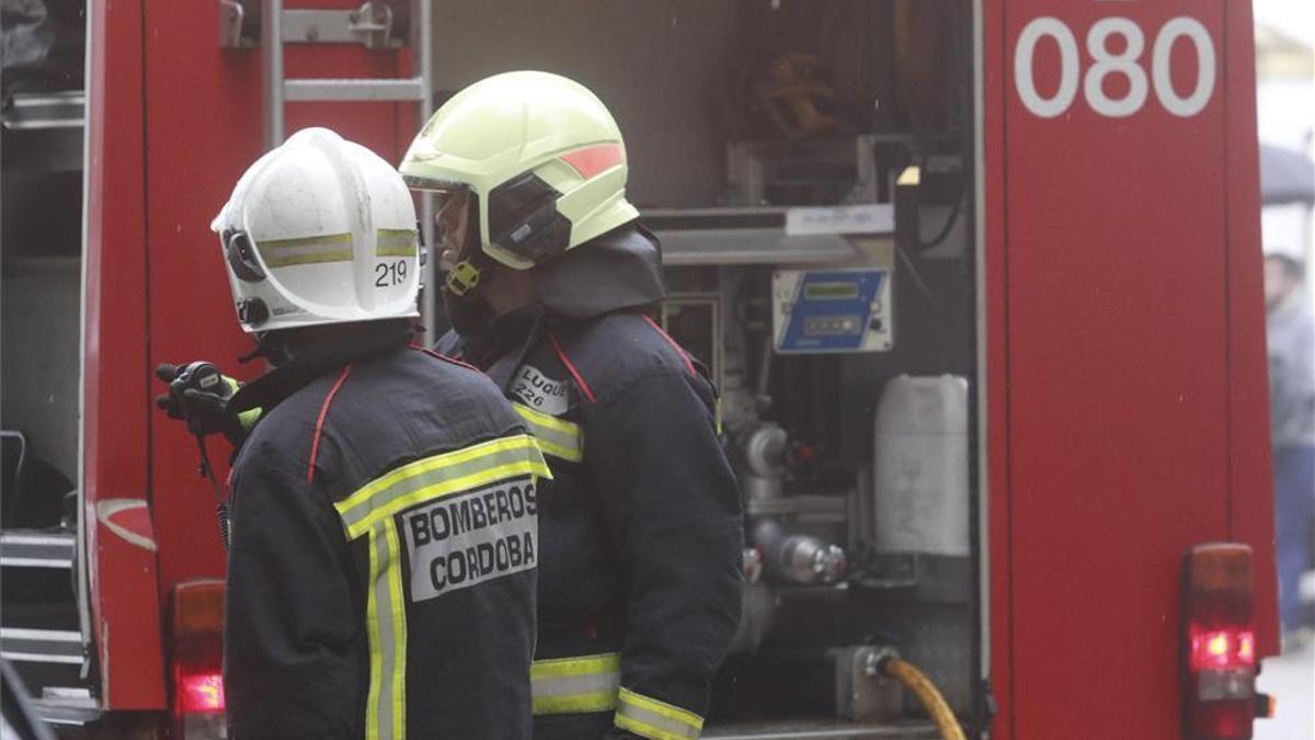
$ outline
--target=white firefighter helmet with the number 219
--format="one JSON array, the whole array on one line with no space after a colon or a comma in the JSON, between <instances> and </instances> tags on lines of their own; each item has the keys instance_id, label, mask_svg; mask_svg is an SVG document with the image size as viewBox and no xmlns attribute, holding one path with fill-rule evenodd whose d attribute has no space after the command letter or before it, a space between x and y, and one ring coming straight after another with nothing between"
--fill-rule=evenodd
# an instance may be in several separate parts
<instances>
[{"instance_id":1,"label":"white firefighter helmet with the number 219","mask_svg":"<svg viewBox=\"0 0 1315 740\"><path fill-rule=\"evenodd\" d=\"M210 224L246 332L419 316L416 226L397 171L321 128L251 165Z\"/></svg>"}]
</instances>

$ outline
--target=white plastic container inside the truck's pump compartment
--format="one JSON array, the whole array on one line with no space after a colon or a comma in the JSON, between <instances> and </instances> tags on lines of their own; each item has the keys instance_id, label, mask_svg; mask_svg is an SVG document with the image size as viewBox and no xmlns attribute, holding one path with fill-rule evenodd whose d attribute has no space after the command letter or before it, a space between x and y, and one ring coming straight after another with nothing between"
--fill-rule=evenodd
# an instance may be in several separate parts
<instances>
[{"instance_id":1,"label":"white plastic container inside the truck's pump compartment","mask_svg":"<svg viewBox=\"0 0 1315 740\"><path fill-rule=\"evenodd\" d=\"M876 549L967 556L968 381L893 378L874 437Z\"/></svg>"}]
</instances>

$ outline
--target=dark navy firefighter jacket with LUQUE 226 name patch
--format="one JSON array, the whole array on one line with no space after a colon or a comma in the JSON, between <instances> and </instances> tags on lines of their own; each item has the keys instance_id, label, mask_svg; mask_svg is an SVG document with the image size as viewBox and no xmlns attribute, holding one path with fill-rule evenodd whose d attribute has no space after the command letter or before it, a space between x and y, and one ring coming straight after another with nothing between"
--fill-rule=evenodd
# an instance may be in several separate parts
<instances>
[{"instance_id":1,"label":"dark navy firefighter jacket with LUQUE 226 name patch","mask_svg":"<svg viewBox=\"0 0 1315 740\"><path fill-rule=\"evenodd\" d=\"M535 739L697 737L739 620L739 491L701 366L627 295L600 290L625 278L622 262L643 255L652 270L652 237L623 226L598 241L537 275L547 305L439 349L489 373L552 469L539 510ZM597 259L606 274L594 277Z\"/></svg>"}]
</instances>

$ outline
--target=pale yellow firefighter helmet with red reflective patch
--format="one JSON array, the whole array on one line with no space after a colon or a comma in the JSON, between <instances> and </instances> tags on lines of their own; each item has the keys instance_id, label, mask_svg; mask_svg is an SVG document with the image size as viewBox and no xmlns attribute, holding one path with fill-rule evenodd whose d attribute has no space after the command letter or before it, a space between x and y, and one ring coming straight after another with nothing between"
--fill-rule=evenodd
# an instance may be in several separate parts
<instances>
[{"instance_id":1,"label":"pale yellow firefighter helmet with red reflective patch","mask_svg":"<svg viewBox=\"0 0 1315 740\"><path fill-rule=\"evenodd\" d=\"M548 72L505 72L458 92L421 129L400 170L416 190L467 191L477 204L479 249L515 270L639 216L626 201L617 121L583 84ZM471 257L460 254L459 266L472 270Z\"/></svg>"}]
</instances>

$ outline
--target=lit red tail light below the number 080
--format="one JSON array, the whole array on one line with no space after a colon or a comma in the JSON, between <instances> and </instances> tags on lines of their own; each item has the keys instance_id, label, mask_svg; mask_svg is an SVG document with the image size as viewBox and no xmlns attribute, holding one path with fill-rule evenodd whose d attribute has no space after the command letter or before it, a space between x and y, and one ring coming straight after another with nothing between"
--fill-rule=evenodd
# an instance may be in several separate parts
<instances>
[{"instance_id":1,"label":"lit red tail light below the number 080","mask_svg":"<svg viewBox=\"0 0 1315 740\"><path fill-rule=\"evenodd\" d=\"M1257 707L1251 548L1197 545L1184 565L1184 736L1247 740ZM1268 711L1262 711L1268 715Z\"/></svg>"}]
</instances>

